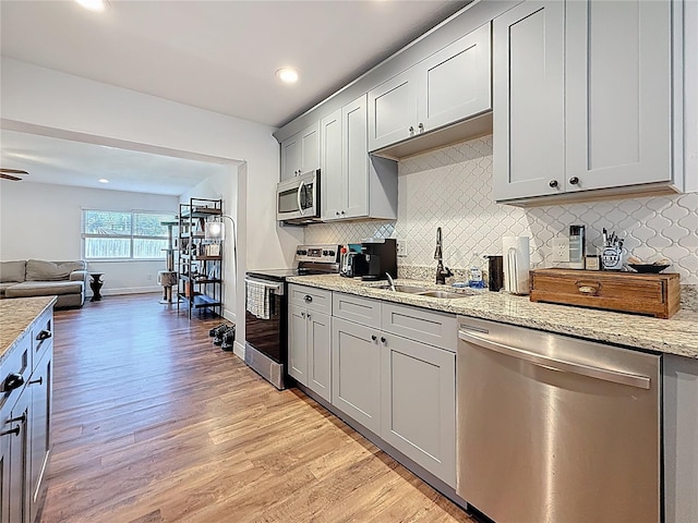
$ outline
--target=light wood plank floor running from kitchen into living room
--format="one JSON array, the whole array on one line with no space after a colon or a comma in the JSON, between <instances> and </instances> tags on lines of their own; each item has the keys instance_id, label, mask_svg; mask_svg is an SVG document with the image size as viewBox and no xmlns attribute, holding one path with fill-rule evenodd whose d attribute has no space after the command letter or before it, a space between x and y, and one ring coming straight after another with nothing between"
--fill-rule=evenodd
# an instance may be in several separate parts
<instances>
[{"instance_id":1,"label":"light wood plank floor running from kitchen into living room","mask_svg":"<svg viewBox=\"0 0 698 523\"><path fill-rule=\"evenodd\" d=\"M56 313L43 523L472 521L158 297Z\"/></svg>"}]
</instances>

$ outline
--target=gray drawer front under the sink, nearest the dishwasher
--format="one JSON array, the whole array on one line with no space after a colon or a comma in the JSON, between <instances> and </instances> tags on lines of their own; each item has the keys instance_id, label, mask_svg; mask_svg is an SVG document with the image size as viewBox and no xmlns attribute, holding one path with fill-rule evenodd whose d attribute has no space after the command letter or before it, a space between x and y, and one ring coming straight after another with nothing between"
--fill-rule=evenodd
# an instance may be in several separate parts
<instances>
[{"instance_id":1,"label":"gray drawer front under the sink, nearest the dishwasher","mask_svg":"<svg viewBox=\"0 0 698 523\"><path fill-rule=\"evenodd\" d=\"M456 316L395 305L384 302L381 328L386 332L456 352L458 344Z\"/></svg>"}]
</instances>

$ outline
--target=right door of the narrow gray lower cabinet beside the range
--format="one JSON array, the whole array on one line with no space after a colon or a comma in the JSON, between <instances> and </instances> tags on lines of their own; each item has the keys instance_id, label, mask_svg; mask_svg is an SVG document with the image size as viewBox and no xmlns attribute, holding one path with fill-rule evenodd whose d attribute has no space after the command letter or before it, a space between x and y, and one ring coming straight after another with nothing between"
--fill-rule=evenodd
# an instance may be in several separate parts
<instances>
[{"instance_id":1,"label":"right door of the narrow gray lower cabinet beside the range","mask_svg":"<svg viewBox=\"0 0 698 523\"><path fill-rule=\"evenodd\" d=\"M308 387L332 401L332 331L328 314L308 311Z\"/></svg>"}]
</instances>

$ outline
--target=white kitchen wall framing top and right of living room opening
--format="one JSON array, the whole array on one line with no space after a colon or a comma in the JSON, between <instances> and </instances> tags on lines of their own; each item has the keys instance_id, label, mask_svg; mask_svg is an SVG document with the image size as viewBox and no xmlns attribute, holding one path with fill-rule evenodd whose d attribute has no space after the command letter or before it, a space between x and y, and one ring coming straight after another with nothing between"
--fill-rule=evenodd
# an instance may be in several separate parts
<instances>
[{"instance_id":1,"label":"white kitchen wall framing top and right of living room opening","mask_svg":"<svg viewBox=\"0 0 698 523\"><path fill-rule=\"evenodd\" d=\"M274 127L4 57L0 66L3 129L204 161L244 160L246 177L239 183L245 185L248 205L239 224L249 230L239 236L244 240L241 268L291 264L303 231L281 229L274 220L279 173ZM237 303L241 301L244 304L242 289ZM238 323L238 341L244 340L242 324Z\"/></svg>"}]
</instances>

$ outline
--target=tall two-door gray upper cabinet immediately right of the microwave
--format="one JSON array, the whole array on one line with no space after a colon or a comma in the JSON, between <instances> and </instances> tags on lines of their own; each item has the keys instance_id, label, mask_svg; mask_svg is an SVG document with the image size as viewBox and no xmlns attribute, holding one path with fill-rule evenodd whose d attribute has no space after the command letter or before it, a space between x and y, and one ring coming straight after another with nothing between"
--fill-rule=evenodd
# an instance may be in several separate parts
<instances>
[{"instance_id":1,"label":"tall two-door gray upper cabinet immediately right of the microwave","mask_svg":"<svg viewBox=\"0 0 698 523\"><path fill-rule=\"evenodd\" d=\"M366 95L321 121L324 221L397 218L397 165L371 158Z\"/></svg>"}]
</instances>

